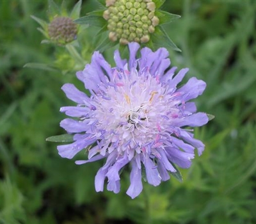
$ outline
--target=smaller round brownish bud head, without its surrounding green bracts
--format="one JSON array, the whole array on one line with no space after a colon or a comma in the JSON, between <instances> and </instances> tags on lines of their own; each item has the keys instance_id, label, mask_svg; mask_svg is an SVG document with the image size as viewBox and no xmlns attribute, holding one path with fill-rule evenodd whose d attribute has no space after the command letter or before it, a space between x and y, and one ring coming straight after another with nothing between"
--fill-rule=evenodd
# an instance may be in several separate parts
<instances>
[{"instance_id":1,"label":"smaller round brownish bud head, without its surrounding green bracts","mask_svg":"<svg viewBox=\"0 0 256 224\"><path fill-rule=\"evenodd\" d=\"M52 41L67 44L76 39L77 25L68 17L56 17L48 26L48 34Z\"/></svg>"}]
</instances>

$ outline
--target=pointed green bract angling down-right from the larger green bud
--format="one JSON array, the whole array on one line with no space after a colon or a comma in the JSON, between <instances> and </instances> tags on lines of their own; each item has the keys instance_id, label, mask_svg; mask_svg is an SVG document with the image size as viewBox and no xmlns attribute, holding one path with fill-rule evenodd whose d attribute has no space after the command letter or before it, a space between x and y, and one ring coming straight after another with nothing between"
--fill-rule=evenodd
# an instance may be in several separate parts
<instances>
[{"instance_id":1,"label":"pointed green bract angling down-right from the larger green bud","mask_svg":"<svg viewBox=\"0 0 256 224\"><path fill-rule=\"evenodd\" d=\"M170 37L164 31L161 26L156 27L156 31L152 33L152 42L157 47L172 48L174 51L180 51L180 49L172 42ZM181 51L180 51L181 52Z\"/></svg>"}]
</instances>

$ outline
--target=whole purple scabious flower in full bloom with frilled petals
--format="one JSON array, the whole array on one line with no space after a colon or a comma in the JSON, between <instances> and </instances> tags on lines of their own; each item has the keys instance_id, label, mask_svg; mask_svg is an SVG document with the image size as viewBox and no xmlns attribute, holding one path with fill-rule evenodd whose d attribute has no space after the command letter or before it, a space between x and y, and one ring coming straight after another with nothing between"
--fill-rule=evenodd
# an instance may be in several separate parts
<instances>
[{"instance_id":1,"label":"whole purple scabious flower in full bloom with frilled petals","mask_svg":"<svg viewBox=\"0 0 256 224\"><path fill-rule=\"evenodd\" d=\"M205 82L195 77L181 87L188 68L175 75L176 67L169 68L168 51L159 48L152 52L140 45L129 44L129 60L122 60L115 51L116 67L111 68L99 52L94 52L92 63L77 72L90 91L88 97L73 84L64 84L62 90L77 106L66 106L61 112L76 118L66 118L60 125L74 134L74 143L59 145L61 157L72 159L89 148L90 163L106 158L95 176L96 191L120 191L120 170L131 166L127 195L135 198L143 186L141 171L145 168L148 184L157 186L170 179L169 172L177 172L175 165L189 168L195 157L195 148L201 155L204 144L193 137L193 129L208 122L206 113L196 113L194 102L201 95Z\"/></svg>"}]
</instances>

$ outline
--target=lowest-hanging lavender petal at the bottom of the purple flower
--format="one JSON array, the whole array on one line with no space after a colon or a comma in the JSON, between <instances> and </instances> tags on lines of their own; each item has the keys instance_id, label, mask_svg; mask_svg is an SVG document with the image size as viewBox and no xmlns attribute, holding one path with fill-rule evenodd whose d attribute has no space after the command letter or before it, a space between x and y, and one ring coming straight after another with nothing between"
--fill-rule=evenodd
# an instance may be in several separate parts
<instances>
[{"instance_id":1,"label":"lowest-hanging lavender petal at the bottom of the purple flower","mask_svg":"<svg viewBox=\"0 0 256 224\"><path fill-rule=\"evenodd\" d=\"M141 182L141 169L138 168L138 165L135 161L135 159L132 159L131 161L132 170L130 174L130 182L131 185L127 189L126 193L127 195L131 196L131 198L136 198L136 196L140 195L143 186Z\"/></svg>"}]
</instances>

